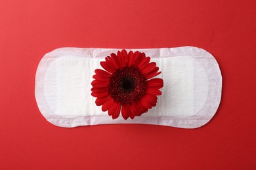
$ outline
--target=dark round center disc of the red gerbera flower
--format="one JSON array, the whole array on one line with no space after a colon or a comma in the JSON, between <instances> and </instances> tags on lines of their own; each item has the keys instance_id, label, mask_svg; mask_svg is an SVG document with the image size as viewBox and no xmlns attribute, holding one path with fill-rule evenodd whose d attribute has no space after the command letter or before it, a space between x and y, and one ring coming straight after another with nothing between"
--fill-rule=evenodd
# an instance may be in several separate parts
<instances>
[{"instance_id":1,"label":"dark round center disc of the red gerbera flower","mask_svg":"<svg viewBox=\"0 0 256 170\"><path fill-rule=\"evenodd\" d=\"M121 104L131 104L139 100L146 90L146 78L137 67L116 69L110 76L108 93Z\"/></svg>"}]
</instances>

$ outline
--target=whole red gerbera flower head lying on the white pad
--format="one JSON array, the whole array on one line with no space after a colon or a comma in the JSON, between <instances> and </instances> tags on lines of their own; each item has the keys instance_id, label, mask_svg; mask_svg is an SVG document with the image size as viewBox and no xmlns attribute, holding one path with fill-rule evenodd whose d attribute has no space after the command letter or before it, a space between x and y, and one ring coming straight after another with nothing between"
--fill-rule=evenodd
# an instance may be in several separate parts
<instances>
[{"instance_id":1,"label":"whole red gerbera flower head lying on the white pad","mask_svg":"<svg viewBox=\"0 0 256 170\"><path fill-rule=\"evenodd\" d=\"M132 52L126 50L112 53L101 61L102 69L96 69L93 75L91 89L96 98L96 105L102 105L102 111L108 110L108 115L113 119L120 114L125 120L135 118L148 109L156 106L158 97L163 87L161 78L153 78L159 75L155 62L150 63L150 57L144 52ZM150 79L151 78L151 79Z\"/></svg>"}]
</instances>

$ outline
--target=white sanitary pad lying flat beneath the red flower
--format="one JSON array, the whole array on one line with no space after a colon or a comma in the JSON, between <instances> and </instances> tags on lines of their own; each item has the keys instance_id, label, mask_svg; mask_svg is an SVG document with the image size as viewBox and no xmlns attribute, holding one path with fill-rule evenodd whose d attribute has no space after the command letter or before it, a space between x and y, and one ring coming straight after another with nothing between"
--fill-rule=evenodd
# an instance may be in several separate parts
<instances>
[{"instance_id":1,"label":"white sanitary pad lying flat beneath the red flower","mask_svg":"<svg viewBox=\"0 0 256 170\"><path fill-rule=\"evenodd\" d=\"M201 48L127 49L144 52L156 62L163 79L156 107L142 116L112 120L95 105L91 82L100 61L121 49L58 48L41 59L35 98L45 118L56 126L156 124L183 128L203 126L221 101L222 77L215 58Z\"/></svg>"}]
</instances>

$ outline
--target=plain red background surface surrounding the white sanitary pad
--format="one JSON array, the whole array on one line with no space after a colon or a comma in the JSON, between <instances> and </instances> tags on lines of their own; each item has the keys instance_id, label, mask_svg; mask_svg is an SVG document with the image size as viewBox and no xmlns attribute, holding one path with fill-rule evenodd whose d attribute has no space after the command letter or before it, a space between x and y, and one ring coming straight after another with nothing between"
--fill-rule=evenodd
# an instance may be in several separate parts
<instances>
[{"instance_id":1,"label":"plain red background surface surrounding the white sanitary pad","mask_svg":"<svg viewBox=\"0 0 256 170\"><path fill-rule=\"evenodd\" d=\"M0 169L255 169L255 1L0 1ZM198 46L223 74L198 129L56 127L35 103L43 55L64 46Z\"/></svg>"}]
</instances>

